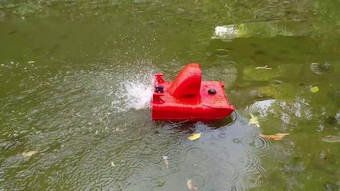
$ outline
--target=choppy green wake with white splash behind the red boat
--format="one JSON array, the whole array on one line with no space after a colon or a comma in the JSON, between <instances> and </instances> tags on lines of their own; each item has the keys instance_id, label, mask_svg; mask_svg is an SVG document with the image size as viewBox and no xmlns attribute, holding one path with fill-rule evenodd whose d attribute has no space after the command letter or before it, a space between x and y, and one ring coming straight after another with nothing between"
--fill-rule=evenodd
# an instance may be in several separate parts
<instances>
[{"instance_id":1,"label":"choppy green wake with white splash behind the red boat","mask_svg":"<svg viewBox=\"0 0 340 191\"><path fill-rule=\"evenodd\" d=\"M143 68L58 72L18 96L6 98L4 109L13 110L6 114L6 123L18 129L18 140L24 144L11 144L13 149L6 156L10 162L3 168L21 166L17 171L26 172L6 177L11 180L6 184L23 181L34 189L40 185L35 177L43 171L47 176L54 172L55 183L67 177L64 185L69 189L101 185L115 190L143 164L154 163L159 157L154 148L164 150L172 144L166 139L152 141L158 135L149 134L153 129L149 110L142 109L147 109L151 98L153 71ZM8 128L1 132L13 131ZM21 156L23 151L42 150L30 158Z\"/></svg>"}]
</instances>

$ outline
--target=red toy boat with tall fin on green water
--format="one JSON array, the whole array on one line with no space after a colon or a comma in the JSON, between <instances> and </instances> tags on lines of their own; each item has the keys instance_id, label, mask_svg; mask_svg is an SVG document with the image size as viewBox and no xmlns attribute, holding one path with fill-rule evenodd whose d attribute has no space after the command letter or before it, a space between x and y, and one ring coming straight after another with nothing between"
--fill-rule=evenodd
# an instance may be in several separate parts
<instances>
[{"instance_id":1,"label":"red toy boat with tall fin on green water","mask_svg":"<svg viewBox=\"0 0 340 191\"><path fill-rule=\"evenodd\" d=\"M164 81L155 74L152 97L152 120L220 120L229 116L229 104L220 81L201 81L200 64L183 67L174 81Z\"/></svg>"}]
</instances>

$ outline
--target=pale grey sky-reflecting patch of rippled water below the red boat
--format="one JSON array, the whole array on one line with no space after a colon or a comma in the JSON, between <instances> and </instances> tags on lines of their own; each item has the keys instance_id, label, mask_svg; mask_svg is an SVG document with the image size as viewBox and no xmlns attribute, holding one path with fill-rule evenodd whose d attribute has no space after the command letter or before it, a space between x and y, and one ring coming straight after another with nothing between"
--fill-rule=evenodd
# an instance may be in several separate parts
<instances>
[{"instance_id":1,"label":"pale grey sky-reflecting patch of rippled water below the red boat","mask_svg":"<svg viewBox=\"0 0 340 191\"><path fill-rule=\"evenodd\" d=\"M159 125L166 127L166 132L188 124L171 122ZM251 132L258 131L256 127L243 125L239 120L228 128L215 130L200 122L191 126L203 132L203 136L188 141L186 133L183 137L178 133L166 134L172 146L169 144L168 149L159 154L157 163L144 165L144 170L128 178L131 183L128 190L133 187L135 190L154 190L158 186L162 186L162 190L183 190L187 189L189 179L199 190L249 190L259 186L266 174L259 154L266 152L268 143L251 135ZM164 151L164 148L160 149ZM168 157L169 168L166 168L162 156ZM138 187L142 183L147 185Z\"/></svg>"}]
</instances>

